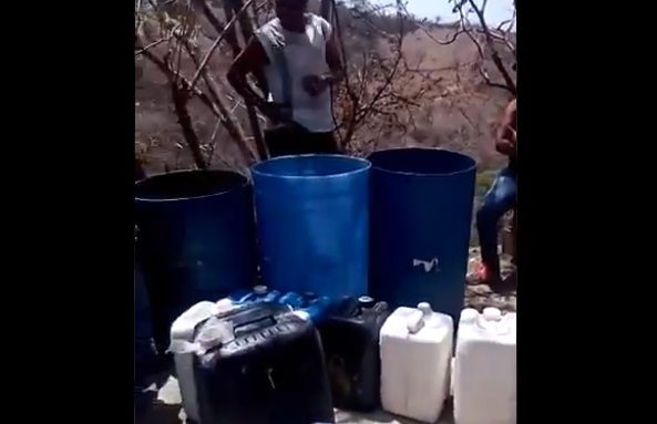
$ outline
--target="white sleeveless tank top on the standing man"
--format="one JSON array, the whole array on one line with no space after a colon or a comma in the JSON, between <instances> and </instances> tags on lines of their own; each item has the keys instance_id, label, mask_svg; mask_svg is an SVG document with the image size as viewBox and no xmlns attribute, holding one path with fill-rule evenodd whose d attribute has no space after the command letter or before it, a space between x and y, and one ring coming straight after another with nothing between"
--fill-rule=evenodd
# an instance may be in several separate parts
<instances>
[{"instance_id":1,"label":"white sleeveless tank top on the standing man","mask_svg":"<svg viewBox=\"0 0 657 424\"><path fill-rule=\"evenodd\" d=\"M326 63L326 42L331 31L331 24L326 19L312 13L307 13L305 33L285 30L278 18L256 30L256 37L269 59L269 64L265 66L269 101L285 102L283 79L274 52L275 46L278 46L285 54L290 76L292 120L311 133L328 133L335 130L330 91L311 96L306 93L301 83L306 75L329 72Z\"/></svg>"}]
</instances>

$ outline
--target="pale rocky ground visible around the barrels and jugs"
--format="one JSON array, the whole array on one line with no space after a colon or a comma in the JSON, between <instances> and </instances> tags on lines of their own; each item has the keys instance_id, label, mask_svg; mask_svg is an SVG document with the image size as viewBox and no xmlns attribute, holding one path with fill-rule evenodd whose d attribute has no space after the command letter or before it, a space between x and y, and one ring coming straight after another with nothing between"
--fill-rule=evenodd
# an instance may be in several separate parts
<instances>
[{"instance_id":1,"label":"pale rocky ground visible around the barrels and jugs","mask_svg":"<svg viewBox=\"0 0 657 424\"><path fill-rule=\"evenodd\" d=\"M496 307L502 310L515 311L516 308L516 276L510 258L502 257L502 269L505 285L496 291L491 290L486 285L476 283L471 277L479 266L479 251L471 249L469 262L469 283L465 288L465 304L482 309ZM153 390L154 407L146 416L136 421L136 424L182 424L185 423L185 414L181 410L181 394L178 384L173 376L163 376L160 390ZM396 417L390 414L378 412L374 414L355 414L345 411L336 411L336 424L413 424L412 420ZM452 424L451 405L446 404L441 420L437 424Z\"/></svg>"}]
</instances>

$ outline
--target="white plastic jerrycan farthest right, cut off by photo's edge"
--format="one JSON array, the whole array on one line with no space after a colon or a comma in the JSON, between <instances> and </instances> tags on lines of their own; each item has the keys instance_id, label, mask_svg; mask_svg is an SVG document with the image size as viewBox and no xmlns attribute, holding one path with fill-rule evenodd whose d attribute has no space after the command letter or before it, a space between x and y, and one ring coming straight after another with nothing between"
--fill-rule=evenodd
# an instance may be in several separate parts
<instances>
[{"instance_id":1,"label":"white plastic jerrycan farthest right, cut off by photo's edge","mask_svg":"<svg viewBox=\"0 0 657 424\"><path fill-rule=\"evenodd\" d=\"M456 424L516 423L515 329L515 312L461 312L452 376Z\"/></svg>"}]
</instances>

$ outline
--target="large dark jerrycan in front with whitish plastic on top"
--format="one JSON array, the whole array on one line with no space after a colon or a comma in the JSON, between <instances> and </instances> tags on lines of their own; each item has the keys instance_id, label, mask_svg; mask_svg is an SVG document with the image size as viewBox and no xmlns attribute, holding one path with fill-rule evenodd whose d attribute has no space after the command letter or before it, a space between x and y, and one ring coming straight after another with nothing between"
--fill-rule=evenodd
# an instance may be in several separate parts
<instances>
[{"instance_id":1,"label":"large dark jerrycan in front with whitish plastic on top","mask_svg":"<svg viewBox=\"0 0 657 424\"><path fill-rule=\"evenodd\" d=\"M319 334L307 313L287 308L248 303L198 330L205 352L194 368L203 424L335 422Z\"/></svg>"}]
</instances>

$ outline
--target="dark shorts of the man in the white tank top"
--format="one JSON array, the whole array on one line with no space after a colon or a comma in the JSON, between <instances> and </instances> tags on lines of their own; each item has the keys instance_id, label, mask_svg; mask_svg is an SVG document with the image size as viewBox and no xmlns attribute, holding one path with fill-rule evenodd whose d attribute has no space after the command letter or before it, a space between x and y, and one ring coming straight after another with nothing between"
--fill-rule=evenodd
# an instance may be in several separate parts
<instances>
[{"instance_id":1,"label":"dark shorts of the man in the white tank top","mask_svg":"<svg viewBox=\"0 0 657 424\"><path fill-rule=\"evenodd\" d=\"M269 157L340 153L332 132L311 133L300 125L266 130L265 144Z\"/></svg>"}]
</instances>

